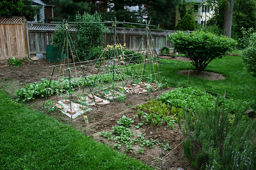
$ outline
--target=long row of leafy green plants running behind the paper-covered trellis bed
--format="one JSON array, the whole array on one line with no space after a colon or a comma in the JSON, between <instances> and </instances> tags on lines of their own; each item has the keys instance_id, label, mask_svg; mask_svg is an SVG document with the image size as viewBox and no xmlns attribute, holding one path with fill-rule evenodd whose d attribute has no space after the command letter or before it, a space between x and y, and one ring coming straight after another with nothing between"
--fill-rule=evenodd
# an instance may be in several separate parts
<instances>
[{"instance_id":1,"label":"long row of leafy green plants running behind the paper-covered trellis bed","mask_svg":"<svg viewBox=\"0 0 256 170\"><path fill-rule=\"evenodd\" d=\"M72 78L70 80L71 92L77 87L88 87L94 84L99 83L99 81L108 83L113 82L113 73L110 74L94 74L86 77L87 81L84 80L84 77ZM115 80L125 80L128 76L125 74L115 74ZM61 77L60 80L55 81L42 78L40 82L29 83L24 85L24 88L17 89L15 96L17 96L17 101L31 101L36 98L42 98L45 96L51 96L54 94L67 94L69 92L69 83L68 78ZM49 90L47 90L49 87ZM47 92L47 94L46 94Z\"/></svg>"}]
</instances>

